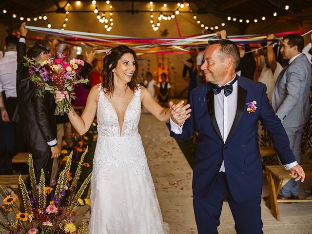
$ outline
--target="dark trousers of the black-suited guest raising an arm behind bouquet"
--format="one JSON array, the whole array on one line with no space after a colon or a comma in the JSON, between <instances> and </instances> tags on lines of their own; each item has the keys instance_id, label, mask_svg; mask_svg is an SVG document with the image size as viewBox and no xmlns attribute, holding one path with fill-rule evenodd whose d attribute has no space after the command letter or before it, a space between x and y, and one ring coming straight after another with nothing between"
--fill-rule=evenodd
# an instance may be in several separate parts
<instances>
[{"instance_id":1,"label":"dark trousers of the black-suited guest raising an arm behind bouquet","mask_svg":"<svg viewBox=\"0 0 312 234\"><path fill-rule=\"evenodd\" d=\"M51 151L44 152L44 151L33 149L31 150L31 154L33 157L33 165L34 165L34 171L35 171L37 184L39 184L40 182L41 168L42 168L44 172L45 186L49 186L52 165L53 165L53 158L51 158L52 156ZM30 181L27 181L27 189L31 190Z\"/></svg>"}]
</instances>

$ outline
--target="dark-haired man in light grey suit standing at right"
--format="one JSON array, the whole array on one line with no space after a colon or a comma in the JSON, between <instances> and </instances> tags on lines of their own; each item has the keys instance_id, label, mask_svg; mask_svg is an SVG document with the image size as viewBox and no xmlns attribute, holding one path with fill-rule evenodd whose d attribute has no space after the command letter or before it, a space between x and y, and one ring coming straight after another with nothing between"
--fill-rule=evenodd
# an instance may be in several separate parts
<instances>
[{"instance_id":1,"label":"dark-haired man in light grey suit standing at right","mask_svg":"<svg viewBox=\"0 0 312 234\"><path fill-rule=\"evenodd\" d=\"M288 66L279 74L273 90L272 106L281 119L290 140L290 147L300 164L300 144L305 124L309 120L311 64L302 54L304 39L298 34L283 38L281 54L289 59ZM299 181L291 179L279 192L279 199L298 199Z\"/></svg>"}]
</instances>

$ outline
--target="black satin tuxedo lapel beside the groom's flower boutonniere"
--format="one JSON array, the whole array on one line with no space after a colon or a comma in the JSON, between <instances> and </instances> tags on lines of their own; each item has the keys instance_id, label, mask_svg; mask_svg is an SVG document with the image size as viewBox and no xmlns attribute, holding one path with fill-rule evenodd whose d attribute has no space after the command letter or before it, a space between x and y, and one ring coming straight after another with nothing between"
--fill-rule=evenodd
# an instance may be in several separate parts
<instances>
[{"instance_id":1,"label":"black satin tuxedo lapel beside the groom's flower boutonniere","mask_svg":"<svg viewBox=\"0 0 312 234\"><path fill-rule=\"evenodd\" d=\"M232 135L234 134L234 131L238 125L238 122L240 120L240 118L242 117L242 114L245 110L245 105L246 105L246 97L247 97L247 91L242 88L239 84L238 84L238 90L237 90L237 108L236 108L236 114L235 114L235 118L231 127L231 130L229 132L229 135L226 139L226 142L229 142L229 140L231 139Z\"/></svg>"}]
</instances>

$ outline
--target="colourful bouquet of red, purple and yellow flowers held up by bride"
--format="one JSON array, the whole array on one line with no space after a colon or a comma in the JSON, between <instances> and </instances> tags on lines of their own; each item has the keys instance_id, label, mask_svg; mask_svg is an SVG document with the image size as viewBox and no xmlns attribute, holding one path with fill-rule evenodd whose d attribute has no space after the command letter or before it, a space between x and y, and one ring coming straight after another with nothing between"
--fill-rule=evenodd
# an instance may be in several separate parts
<instances>
[{"instance_id":1,"label":"colourful bouquet of red, purple and yellow flowers held up by bride","mask_svg":"<svg viewBox=\"0 0 312 234\"><path fill-rule=\"evenodd\" d=\"M65 57L59 54L59 58L53 58L53 54L48 54L49 58L43 62L36 59L26 59L24 66L29 67L30 80L35 82L39 87L39 96L43 96L46 91L55 95L55 91L68 91L69 99L75 99L73 93L74 86L78 83L87 83L79 75L84 65L83 60L72 59L65 62ZM55 115L64 115L72 109L70 102L64 98L59 101L55 109Z\"/></svg>"}]
</instances>

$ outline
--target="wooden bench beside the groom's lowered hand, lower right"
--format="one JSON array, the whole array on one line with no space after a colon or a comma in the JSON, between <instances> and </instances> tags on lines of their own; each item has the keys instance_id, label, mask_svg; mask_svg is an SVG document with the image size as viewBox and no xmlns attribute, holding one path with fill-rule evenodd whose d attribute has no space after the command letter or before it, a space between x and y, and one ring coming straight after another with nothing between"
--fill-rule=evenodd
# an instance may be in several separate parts
<instances>
[{"instance_id":1,"label":"wooden bench beside the groom's lowered hand, lower right","mask_svg":"<svg viewBox=\"0 0 312 234\"><path fill-rule=\"evenodd\" d=\"M312 164L301 165L306 178L312 177ZM280 220L278 205L277 203L287 202L312 202L312 199L277 199L277 195L281 187L283 187L292 177L289 175L290 172L285 169L282 165L266 166L266 174L269 186L269 197L266 202L266 206L271 209L272 215Z\"/></svg>"}]
</instances>

